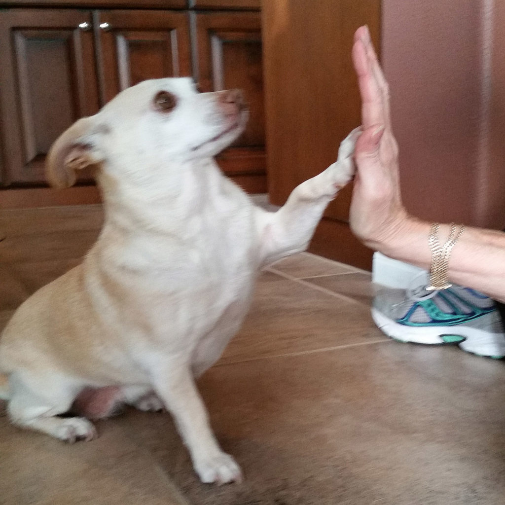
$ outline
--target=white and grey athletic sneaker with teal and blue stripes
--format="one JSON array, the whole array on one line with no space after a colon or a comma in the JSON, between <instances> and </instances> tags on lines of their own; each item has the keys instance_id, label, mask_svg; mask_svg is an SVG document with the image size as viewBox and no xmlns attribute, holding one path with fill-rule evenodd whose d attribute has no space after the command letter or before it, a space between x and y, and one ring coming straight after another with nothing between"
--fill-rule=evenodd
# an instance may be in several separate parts
<instances>
[{"instance_id":1,"label":"white and grey athletic sneaker with teal and blue stripes","mask_svg":"<svg viewBox=\"0 0 505 505\"><path fill-rule=\"evenodd\" d=\"M441 291L384 288L373 302L372 318L386 335L402 342L458 344L494 359L505 357L505 335L494 301L453 284Z\"/></svg>"}]
</instances>

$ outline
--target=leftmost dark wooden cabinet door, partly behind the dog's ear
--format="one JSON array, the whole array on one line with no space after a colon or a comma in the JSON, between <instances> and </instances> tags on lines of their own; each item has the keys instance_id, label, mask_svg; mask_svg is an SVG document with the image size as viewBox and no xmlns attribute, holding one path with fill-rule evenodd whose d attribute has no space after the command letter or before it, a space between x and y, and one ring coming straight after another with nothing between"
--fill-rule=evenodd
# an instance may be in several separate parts
<instances>
[{"instance_id":1,"label":"leftmost dark wooden cabinet door, partly behind the dog's ear","mask_svg":"<svg viewBox=\"0 0 505 505\"><path fill-rule=\"evenodd\" d=\"M2 185L42 183L53 141L98 110L91 25L89 11L0 11Z\"/></svg>"}]
</instances>

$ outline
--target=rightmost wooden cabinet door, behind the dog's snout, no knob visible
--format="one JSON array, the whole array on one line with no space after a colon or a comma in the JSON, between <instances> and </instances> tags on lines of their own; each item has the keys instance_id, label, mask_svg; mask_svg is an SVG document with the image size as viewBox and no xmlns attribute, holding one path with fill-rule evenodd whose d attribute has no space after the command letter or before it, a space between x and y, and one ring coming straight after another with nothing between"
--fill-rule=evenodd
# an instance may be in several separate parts
<instances>
[{"instance_id":1,"label":"rightmost wooden cabinet door, behind the dog's snout, no knob visible","mask_svg":"<svg viewBox=\"0 0 505 505\"><path fill-rule=\"evenodd\" d=\"M218 163L251 192L266 190L260 13L198 13L197 79L203 91L240 88L249 104L245 132Z\"/></svg>"}]
</instances>

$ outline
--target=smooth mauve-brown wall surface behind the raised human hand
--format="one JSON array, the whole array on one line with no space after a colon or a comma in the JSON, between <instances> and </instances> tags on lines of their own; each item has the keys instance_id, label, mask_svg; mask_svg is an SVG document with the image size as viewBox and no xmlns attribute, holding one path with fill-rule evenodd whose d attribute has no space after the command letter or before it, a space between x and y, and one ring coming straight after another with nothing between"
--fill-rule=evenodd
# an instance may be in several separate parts
<instances>
[{"instance_id":1,"label":"smooth mauve-brown wall surface behind the raised human hand","mask_svg":"<svg viewBox=\"0 0 505 505\"><path fill-rule=\"evenodd\" d=\"M407 208L440 221L505 226L505 0L383 0Z\"/></svg>"}]
</instances>

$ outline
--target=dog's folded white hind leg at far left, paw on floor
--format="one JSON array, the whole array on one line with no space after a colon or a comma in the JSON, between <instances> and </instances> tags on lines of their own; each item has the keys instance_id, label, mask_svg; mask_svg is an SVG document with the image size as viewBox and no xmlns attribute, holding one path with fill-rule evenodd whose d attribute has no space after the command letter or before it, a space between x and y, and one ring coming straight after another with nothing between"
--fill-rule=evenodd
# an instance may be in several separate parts
<instances>
[{"instance_id":1,"label":"dog's folded white hind leg at far left, paw on floor","mask_svg":"<svg viewBox=\"0 0 505 505\"><path fill-rule=\"evenodd\" d=\"M57 417L66 413L76 395L76 385L62 377L35 378L13 373L8 406L13 424L75 442L96 437L94 426L82 417Z\"/></svg>"}]
</instances>

